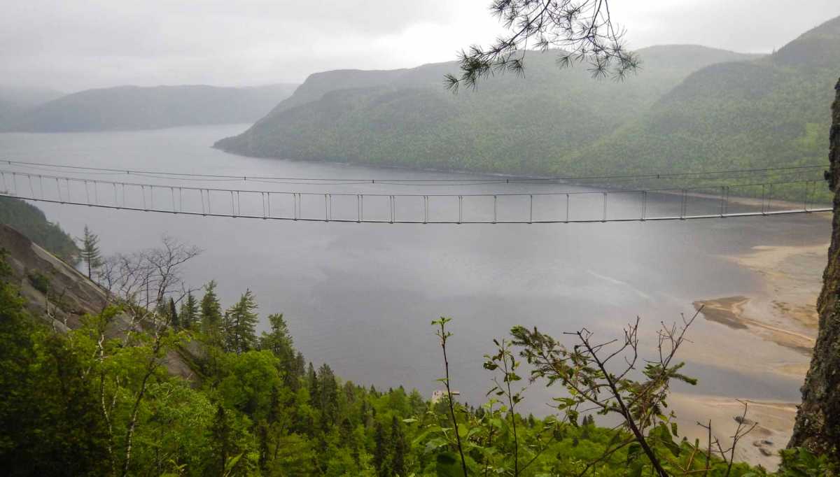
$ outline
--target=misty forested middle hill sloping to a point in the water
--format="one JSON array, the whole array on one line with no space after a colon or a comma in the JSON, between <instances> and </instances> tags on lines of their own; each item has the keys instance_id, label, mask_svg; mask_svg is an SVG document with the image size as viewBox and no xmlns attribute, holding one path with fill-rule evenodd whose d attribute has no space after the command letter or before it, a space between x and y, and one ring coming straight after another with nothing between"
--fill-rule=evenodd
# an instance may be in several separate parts
<instances>
[{"instance_id":1,"label":"misty forested middle hill sloping to a point in the water","mask_svg":"<svg viewBox=\"0 0 840 477\"><path fill-rule=\"evenodd\" d=\"M523 78L496 76L453 95L454 63L396 71L328 71L244 134L216 147L300 160L539 173L636 118L685 76L740 55L693 45L641 50L625 82L592 81L584 66L560 69L556 52L528 52Z\"/></svg>"}]
</instances>

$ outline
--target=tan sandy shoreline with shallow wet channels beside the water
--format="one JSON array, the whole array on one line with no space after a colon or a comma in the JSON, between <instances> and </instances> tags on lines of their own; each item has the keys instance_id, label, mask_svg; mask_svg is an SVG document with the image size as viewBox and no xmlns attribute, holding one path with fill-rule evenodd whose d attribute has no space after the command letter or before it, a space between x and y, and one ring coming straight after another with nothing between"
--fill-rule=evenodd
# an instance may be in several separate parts
<instances>
[{"instance_id":1,"label":"tan sandy shoreline with shallow wet channels beside the water","mask_svg":"<svg viewBox=\"0 0 840 477\"><path fill-rule=\"evenodd\" d=\"M706 337L720 344L717 355L700 346L693 347L692 358L739 372L803 380L816 338L816 297L827 249L828 244L759 246L748 254L725 257L759 275L764 291L695 301L696 309L703 307L701 317L726 328L717 327L713 337ZM721 349L731 354L721 355ZM705 439L696 421L711 418L716 434L727 442L738 425L733 417L742 411L742 404L731 397L675 393L672 400L691 440ZM798 402L748 400L748 404L748 418L759 422L759 427L739 445L739 459L775 469L779 462L775 454L790 439Z\"/></svg>"}]
</instances>

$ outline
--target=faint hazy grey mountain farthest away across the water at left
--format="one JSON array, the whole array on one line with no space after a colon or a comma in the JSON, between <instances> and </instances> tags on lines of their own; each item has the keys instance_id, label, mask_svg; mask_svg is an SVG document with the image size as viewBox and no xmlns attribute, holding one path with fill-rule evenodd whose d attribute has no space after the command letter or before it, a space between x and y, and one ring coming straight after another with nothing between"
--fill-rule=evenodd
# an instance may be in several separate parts
<instances>
[{"instance_id":1,"label":"faint hazy grey mountain farthest away across the water at left","mask_svg":"<svg viewBox=\"0 0 840 477\"><path fill-rule=\"evenodd\" d=\"M192 124L251 123L295 85L253 87L117 86L76 92L7 121L26 132L155 129Z\"/></svg>"}]
</instances>

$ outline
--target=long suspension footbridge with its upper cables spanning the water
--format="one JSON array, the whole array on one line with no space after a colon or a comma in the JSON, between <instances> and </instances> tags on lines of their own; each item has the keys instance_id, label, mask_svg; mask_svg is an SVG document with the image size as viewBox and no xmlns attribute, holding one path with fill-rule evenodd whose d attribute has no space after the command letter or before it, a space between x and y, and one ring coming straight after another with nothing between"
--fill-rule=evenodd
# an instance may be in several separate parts
<instances>
[{"instance_id":1,"label":"long suspension footbridge with its upper cables spanning the water","mask_svg":"<svg viewBox=\"0 0 840 477\"><path fill-rule=\"evenodd\" d=\"M694 187L592 191L568 181L752 178L757 172L784 175L823 166L726 170L637 176L480 179L325 179L281 176L223 176L166 171L118 170L83 166L4 161L0 196L74 206L183 214L204 217L336 223L608 223L760 217L830 212L816 201L818 180L743 181ZM49 169L45 170L45 168ZM29 168L29 170L27 170ZM70 170L66 170L69 168ZM23 169L23 170L19 170ZM35 170L31 170L35 169ZM57 174L46 174L47 171ZM64 173L61 173L64 172ZM81 176L79 176L81 175ZM102 175L144 177L147 181L102 180ZM717 176L712 176L717 175ZM154 178L169 183L148 181ZM194 181L242 181L297 185L301 190L268 190L194 186ZM517 184L563 183L562 191L511 191ZM505 191L382 193L369 191L303 191L304 186L490 186ZM792 200L791 197L798 197Z\"/></svg>"}]
</instances>

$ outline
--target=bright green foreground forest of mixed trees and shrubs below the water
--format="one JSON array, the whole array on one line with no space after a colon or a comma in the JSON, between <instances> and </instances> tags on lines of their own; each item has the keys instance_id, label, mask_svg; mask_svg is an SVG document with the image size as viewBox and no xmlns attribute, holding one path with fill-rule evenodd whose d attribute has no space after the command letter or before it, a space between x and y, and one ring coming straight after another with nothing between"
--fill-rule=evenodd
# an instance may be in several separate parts
<instances>
[{"instance_id":1,"label":"bright green foreground forest of mixed trees and shrubs below the water","mask_svg":"<svg viewBox=\"0 0 840 477\"><path fill-rule=\"evenodd\" d=\"M178 269L198 253L165 240L160 249L103 259L102 310L61 331L55 318L27 307L3 250L4 474L565 476L643 475L654 468L669 475L767 474L732 462L729 446L738 439L716 440L717 449L707 451L706 443L680 438L664 407L669 381L693 380L670 362L673 353L647 362L635 380L598 371L602 345L587 335L580 346L596 346L592 354L513 328L510 341L488 343L484 369L495 384L488 401L467 406L449 392L446 350L459 336L441 318L432 326L444 392L427 401L396 384L377 390L341 380L328 364L307 361L282 314L265 317L267 330L256 333L260 317L250 291L228 307L213 281L184 292ZM153 264L160 266L147 266ZM48 274L29 270L25 277L37 278L45 301L63 307ZM81 275L77 280L73 289L93 286ZM681 335L671 337L678 347ZM534 380L556 381L567 391L558 390L557 415L517 412L528 385L517 375L522 359ZM617 386L612 398L599 397L610 394L602 391L606 382ZM569 392L575 389L580 393ZM628 425L599 427L596 414L627 416ZM783 457L779 475L827 469L824 459L801 449Z\"/></svg>"}]
</instances>

